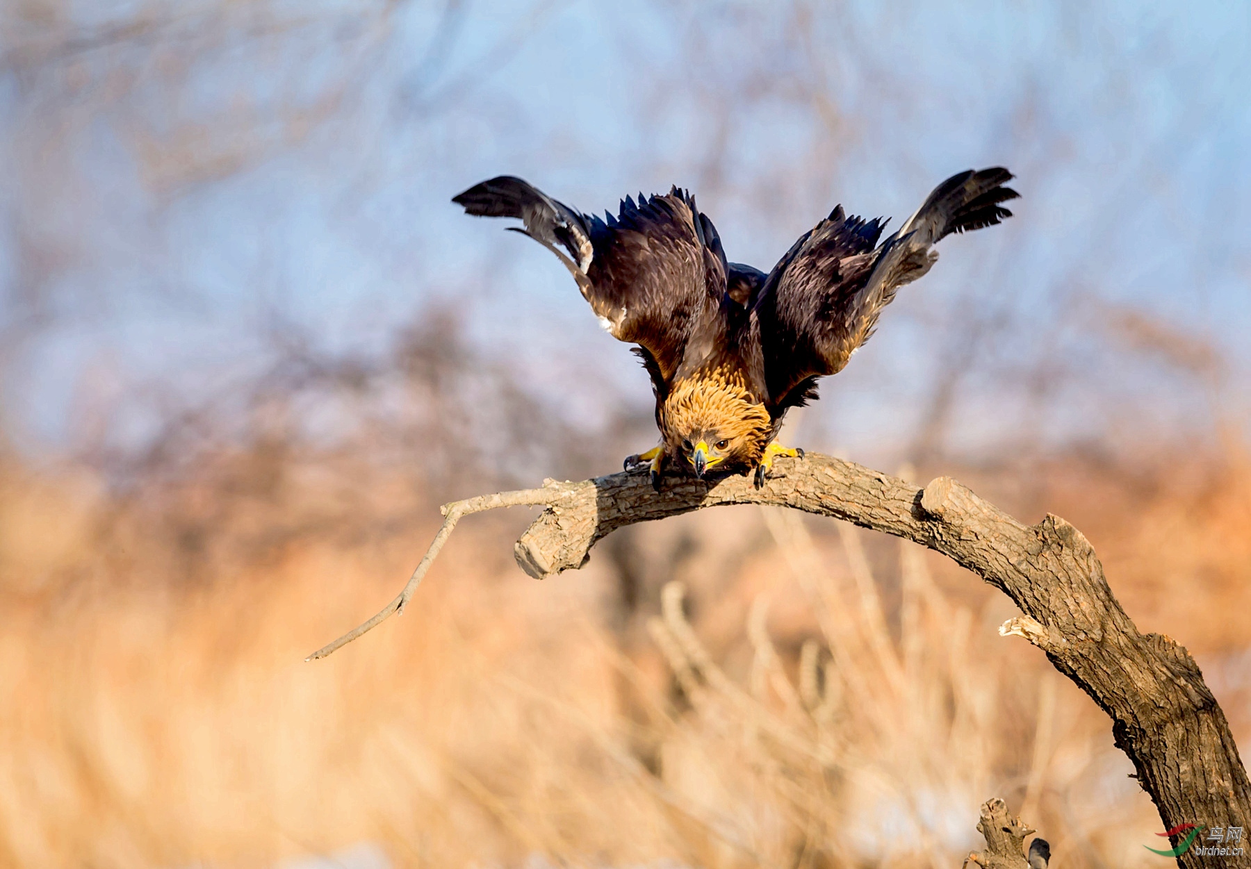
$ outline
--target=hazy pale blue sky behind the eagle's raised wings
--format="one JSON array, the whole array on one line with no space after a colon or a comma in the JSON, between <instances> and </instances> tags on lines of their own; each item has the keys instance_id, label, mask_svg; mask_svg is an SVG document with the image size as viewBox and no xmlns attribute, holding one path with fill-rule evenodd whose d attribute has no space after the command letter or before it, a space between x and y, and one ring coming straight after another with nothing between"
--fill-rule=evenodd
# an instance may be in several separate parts
<instances>
[{"instance_id":1,"label":"hazy pale blue sky behind the eagle's raised wings","mask_svg":"<svg viewBox=\"0 0 1251 869\"><path fill-rule=\"evenodd\" d=\"M0 318L21 339L5 383L21 443L73 441L93 401L125 406L110 424L141 439L160 411L135 384L229 393L275 324L377 353L435 299L570 415L646 404L559 264L448 203L502 173L585 210L689 186L731 259L768 268L836 203L899 219L953 171L1016 171L1017 218L945 241L826 386L804 424L827 449L897 448L953 366L953 436L975 446L1022 414L1062 440L1112 405L1161 426L1206 413L1098 325L1121 308L1215 343L1220 401L1245 410L1246 5L243 8L93 5L66 26L164 24L34 60L9 43ZM38 329L16 319L31 251Z\"/></svg>"}]
</instances>

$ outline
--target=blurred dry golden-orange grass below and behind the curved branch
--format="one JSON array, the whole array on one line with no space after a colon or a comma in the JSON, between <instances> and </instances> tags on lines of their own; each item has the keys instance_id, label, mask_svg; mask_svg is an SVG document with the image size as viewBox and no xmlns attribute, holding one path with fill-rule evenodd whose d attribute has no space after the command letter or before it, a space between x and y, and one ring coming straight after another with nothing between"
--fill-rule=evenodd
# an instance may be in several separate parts
<instances>
[{"instance_id":1,"label":"blurred dry golden-orange grass below and behind the curved branch","mask_svg":"<svg viewBox=\"0 0 1251 869\"><path fill-rule=\"evenodd\" d=\"M1061 468L1013 509L1082 528L1245 740L1245 455L1150 484ZM520 515L468 520L404 618L305 664L389 599L435 516L334 456L219 456L126 496L8 461L0 863L265 866L373 841L405 866L937 869L980 844L992 795L1056 865L1158 861L1107 720L996 634L1008 601L786 511L632 529L545 583L508 560Z\"/></svg>"}]
</instances>

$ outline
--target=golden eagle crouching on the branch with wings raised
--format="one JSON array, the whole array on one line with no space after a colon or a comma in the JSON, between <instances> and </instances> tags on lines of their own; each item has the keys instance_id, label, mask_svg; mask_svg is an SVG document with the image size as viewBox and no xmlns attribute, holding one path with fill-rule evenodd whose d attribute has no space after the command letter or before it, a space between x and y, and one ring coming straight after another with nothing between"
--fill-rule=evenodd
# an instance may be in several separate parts
<instances>
[{"instance_id":1,"label":"golden eagle crouching on the branch with wings raised","mask_svg":"<svg viewBox=\"0 0 1251 869\"><path fill-rule=\"evenodd\" d=\"M468 214L519 218L514 231L560 258L603 326L637 353L656 390L661 444L626 460L646 463L659 489L666 469L756 474L762 485L791 408L817 396L863 344L896 290L938 259L951 233L1011 218L1002 168L963 171L881 245L881 218L839 205L792 245L768 274L728 263L717 228L694 196L627 196L617 216L582 214L519 178L500 175L452 201Z\"/></svg>"}]
</instances>

